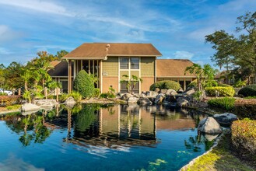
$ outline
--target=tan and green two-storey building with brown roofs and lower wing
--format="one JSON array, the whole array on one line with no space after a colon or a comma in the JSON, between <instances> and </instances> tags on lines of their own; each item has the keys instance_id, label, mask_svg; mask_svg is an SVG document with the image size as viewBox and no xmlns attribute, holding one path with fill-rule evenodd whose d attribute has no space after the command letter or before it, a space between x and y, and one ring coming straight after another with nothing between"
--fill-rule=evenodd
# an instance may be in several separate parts
<instances>
[{"instance_id":1,"label":"tan and green two-storey building with brown roofs and lower wing","mask_svg":"<svg viewBox=\"0 0 256 171\"><path fill-rule=\"evenodd\" d=\"M134 92L148 91L156 81L174 80L185 89L195 76L184 75L184 69L192 65L188 60L156 60L162 54L152 44L127 43L86 43L71 51L63 61L53 62L54 69L48 73L62 89L72 91L75 75L82 69L95 75L98 79L95 87L100 92L107 92L113 87L116 92L127 92L126 85L121 84L123 75L142 78Z\"/></svg>"}]
</instances>

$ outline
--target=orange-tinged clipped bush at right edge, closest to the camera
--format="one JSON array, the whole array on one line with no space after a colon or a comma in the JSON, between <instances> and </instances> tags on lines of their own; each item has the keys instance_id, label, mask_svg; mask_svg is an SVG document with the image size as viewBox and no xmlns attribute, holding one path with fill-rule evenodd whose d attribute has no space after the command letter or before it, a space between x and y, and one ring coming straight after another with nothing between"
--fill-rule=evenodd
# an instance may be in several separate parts
<instances>
[{"instance_id":1,"label":"orange-tinged clipped bush at right edge, closest to the camera","mask_svg":"<svg viewBox=\"0 0 256 171\"><path fill-rule=\"evenodd\" d=\"M236 120L231 126L232 142L256 154L256 120Z\"/></svg>"}]
</instances>

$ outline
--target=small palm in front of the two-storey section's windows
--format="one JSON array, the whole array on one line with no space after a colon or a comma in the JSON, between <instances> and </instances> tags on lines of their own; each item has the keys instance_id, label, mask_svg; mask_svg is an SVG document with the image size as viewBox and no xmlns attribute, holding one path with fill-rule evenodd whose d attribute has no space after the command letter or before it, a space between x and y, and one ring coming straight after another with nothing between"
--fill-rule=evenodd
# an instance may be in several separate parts
<instances>
[{"instance_id":1,"label":"small palm in front of the two-storey section's windows","mask_svg":"<svg viewBox=\"0 0 256 171\"><path fill-rule=\"evenodd\" d=\"M132 78L129 79L128 75L122 75L125 79L121 79L121 84L126 84L126 88L128 89L129 93L132 93L135 89L135 86L139 84L139 82L143 82L142 78L137 77L136 75L132 75Z\"/></svg>"}]
</instances>

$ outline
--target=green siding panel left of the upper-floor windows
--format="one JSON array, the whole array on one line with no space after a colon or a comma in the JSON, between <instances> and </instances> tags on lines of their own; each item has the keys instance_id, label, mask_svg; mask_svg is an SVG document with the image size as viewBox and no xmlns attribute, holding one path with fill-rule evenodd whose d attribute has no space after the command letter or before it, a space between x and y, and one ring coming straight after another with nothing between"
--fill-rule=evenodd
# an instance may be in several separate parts
<instances>
[{"instance_id":1,"label":"green siding panel left of the upper-floor windows","mask_svg":"<svg viewBox=\"0 0 256 171\"><path fill-rule=\"evenodd\" d=\"M102 62L103 77L117 77L118 76L118 58L108 57L107 61ZM106 74L106 75L104 75Z\"/></svg>"}]
</instances>

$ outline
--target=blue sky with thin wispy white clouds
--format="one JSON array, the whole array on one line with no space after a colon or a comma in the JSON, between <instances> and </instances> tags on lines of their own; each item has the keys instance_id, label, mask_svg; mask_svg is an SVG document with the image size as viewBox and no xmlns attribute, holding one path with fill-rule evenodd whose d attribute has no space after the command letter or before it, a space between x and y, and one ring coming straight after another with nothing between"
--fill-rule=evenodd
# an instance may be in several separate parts
<instances>
[{"instance_id":1,"label":"blue sky with thin wispy white clouds","mask_svg":"<svg viewBox=\"0 0 256 171\"><path fill-rule=\"evenodd\" d=\"M234 33L255 0L0 0L0 64L85 42L152 43L161 58L212 64L205 35Z\"/></svg>"}]
</instances>

